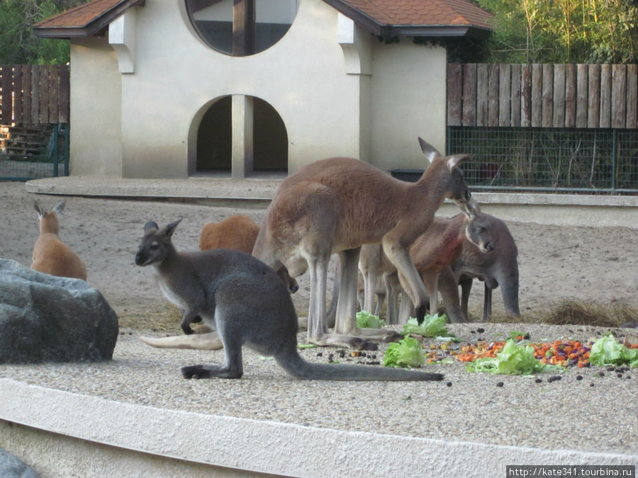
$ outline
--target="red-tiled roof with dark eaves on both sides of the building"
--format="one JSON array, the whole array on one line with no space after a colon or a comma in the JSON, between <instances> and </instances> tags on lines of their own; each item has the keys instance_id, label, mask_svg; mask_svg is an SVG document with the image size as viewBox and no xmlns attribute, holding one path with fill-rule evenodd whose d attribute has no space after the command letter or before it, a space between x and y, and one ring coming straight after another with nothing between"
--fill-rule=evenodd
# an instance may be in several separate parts
<instances>
[{"instance_id":1,"label":"red-tiled roof with dark eaves on both sides of the building","mask_svg":"<svg viewBox=\"0 0 638 478\"><path fill-rule=\"evenodd\" d=\"M323 0L381 36L456 36L491 30L491 13L470 0ZM93 35L144 0L93 0L33 25L42 37Z\"/></svg>"}]
</instances>

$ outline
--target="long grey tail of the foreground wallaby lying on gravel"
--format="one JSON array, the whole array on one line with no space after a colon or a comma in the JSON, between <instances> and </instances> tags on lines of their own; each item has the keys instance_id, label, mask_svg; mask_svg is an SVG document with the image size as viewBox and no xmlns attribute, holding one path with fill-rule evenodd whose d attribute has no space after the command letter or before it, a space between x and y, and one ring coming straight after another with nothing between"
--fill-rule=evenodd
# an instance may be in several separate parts
<instances>
[{"instance_id":1,"label":"long grey tail of the foreground wallaby lying on gravel","mask_svg":"<svg viewBox=\"0 0 638 478\"><path fill-rule=\"evenodd\" d=\"M416 372L399 368L381 368L366 365L330 365L310 363L297 353L282 353L275 357L277 363L295 378L303 380L356 380L356 381L420 381L443 380L440 373Z\"/></svg>"}]
</instances>

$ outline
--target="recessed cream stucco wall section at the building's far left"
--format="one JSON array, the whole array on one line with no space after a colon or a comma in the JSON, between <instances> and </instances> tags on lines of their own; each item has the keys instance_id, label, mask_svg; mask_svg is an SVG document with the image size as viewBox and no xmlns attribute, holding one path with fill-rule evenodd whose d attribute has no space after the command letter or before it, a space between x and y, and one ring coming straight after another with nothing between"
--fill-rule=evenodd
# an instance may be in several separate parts
<instances>
[{"instance_id":1,"label":"recessed cream stucco wall section at the building's far left","mask_svg":"<svg viewBox=\"0 0 638 478\"><path fill-rule=\"evenodd\" d=\"M121 176L121 74L106 38L71 42L69 169Z\"/></svg>"}]
</instances>

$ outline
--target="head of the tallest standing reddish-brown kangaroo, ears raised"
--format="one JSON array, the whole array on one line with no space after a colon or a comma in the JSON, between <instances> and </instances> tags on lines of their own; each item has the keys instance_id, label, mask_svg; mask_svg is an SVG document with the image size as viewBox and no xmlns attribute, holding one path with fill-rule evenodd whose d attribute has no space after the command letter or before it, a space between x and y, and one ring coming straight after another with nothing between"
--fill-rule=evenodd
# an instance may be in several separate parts
<instances>
[{"instance_id":1,"label":"head of the tallest standing reddish-brown kangaroo, ears raised","mask_svg":"<svg viewBox=\"0 0 638 478\"><path fill-rule=\"evenodd\" d=\"M459 168L461 164L472 157L471 154L453 154L452 156L443 157L440 152L419 138L421 151L430 161L430 168L436 169L434 174L437 176L435 182L439 187L444 188L445 197L454 200L456 203L467 203L471 198L471 193L463 171Z\"/></svg>"}]
</instances>

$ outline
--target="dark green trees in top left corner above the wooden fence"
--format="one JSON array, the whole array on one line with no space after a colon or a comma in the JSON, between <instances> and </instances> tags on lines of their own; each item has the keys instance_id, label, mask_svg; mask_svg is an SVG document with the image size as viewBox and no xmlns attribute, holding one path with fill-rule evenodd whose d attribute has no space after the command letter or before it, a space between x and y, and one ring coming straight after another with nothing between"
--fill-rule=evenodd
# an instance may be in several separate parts
<instances>
[{"instance_id":1,"label":"dark green trees in top left corner above the wooden fence","mask_svg":"<svg viewBox=\"0 0 638 478\"><path fill-rule=\"evenodd\" d=\"M86 0L0 0L0 64L64 64L69 40L38 38L30 25Z\"/></svg>"}]
</instances>

